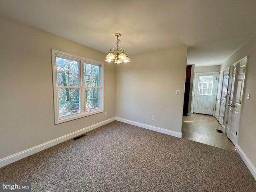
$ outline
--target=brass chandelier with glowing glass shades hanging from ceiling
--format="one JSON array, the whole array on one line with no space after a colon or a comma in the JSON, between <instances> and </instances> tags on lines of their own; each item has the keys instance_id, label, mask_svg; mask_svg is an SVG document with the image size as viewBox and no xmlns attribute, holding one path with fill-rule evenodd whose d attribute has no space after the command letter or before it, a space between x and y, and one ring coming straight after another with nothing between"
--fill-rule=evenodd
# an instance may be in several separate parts
<instances>
[{"instance_id":1,"label":"brass chandelier with glowing glass shades hanging from ceiling","mask_svg":"<svg viewBox=\"0 0 256 192\"><path fill-rule=\"evenodd\" d=\"M109 52L108 55L106 56L106 60L105 60L105 61L106 61L106 62L112 62L112 61L115 60L114 63L116 63L116 64L120 64L120 63L122 63L122 62L129 63L129 62L130 62L130 59L129 59L128 56L127 56L127 52L124 51L123 48L120 49L120 52L121 52L121 53L120 53L119 50L118 50L118 43L120 42L120 40L118 39L118 37L120 37L121 34L120 34L120 33L115 33L115 36L117 37L117 43L116 43L117 48L116 48L116 50L114 50L114 48L111 48L111 49L110 49L110 52Z\"/></svg>"}]
</instances>

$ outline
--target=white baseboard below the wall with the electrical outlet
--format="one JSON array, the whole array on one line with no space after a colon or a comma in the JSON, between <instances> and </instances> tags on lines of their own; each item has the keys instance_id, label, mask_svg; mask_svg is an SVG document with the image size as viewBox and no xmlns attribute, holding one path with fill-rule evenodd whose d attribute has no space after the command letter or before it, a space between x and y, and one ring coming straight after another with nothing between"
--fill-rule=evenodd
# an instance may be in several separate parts
<instances>
[{"instance_id":1,"label":"white baseboard below the wall with the electrical outlet","mask_svg":"<svg viewBox=\"0 0 256 192\"><path fill-rule=\"evenodd\" d=\"M151 125L147 125L147 124L143 124L143 123L123 119L123 118L120 118L120 117L116 117L116 120L120 121L120 122L127 123L127 124L135 125L135 126L138 126L138 127L142 127L142 128L145 128L145 129L149 129L149 130L152 130L152 131L156 131L156 132L164 133L164 134L167 134L167 135L171 135L171 136L174 136L174 137L178 137L178 138L182 137L182 132L175 132L175 131L163 129L163 128L160 128L160 127L155 127L155 126L151 126Z\"/></svg>"}]
</instances>

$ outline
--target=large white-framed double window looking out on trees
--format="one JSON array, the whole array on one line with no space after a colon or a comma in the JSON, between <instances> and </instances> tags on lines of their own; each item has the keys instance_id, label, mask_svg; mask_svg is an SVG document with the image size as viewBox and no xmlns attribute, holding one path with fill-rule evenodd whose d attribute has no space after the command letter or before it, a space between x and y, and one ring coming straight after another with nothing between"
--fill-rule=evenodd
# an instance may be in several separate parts
<instances>
[{"instance_id":1,"label":"large white-framed double window looking out on trees","mask_svg":"<svg viewBox=\"0 0 256 192\"><path fill-rule=\"evenodd\" d=\"M104 63L52 49L55 124L104 111Z\"/></svg>"}]
</instances>

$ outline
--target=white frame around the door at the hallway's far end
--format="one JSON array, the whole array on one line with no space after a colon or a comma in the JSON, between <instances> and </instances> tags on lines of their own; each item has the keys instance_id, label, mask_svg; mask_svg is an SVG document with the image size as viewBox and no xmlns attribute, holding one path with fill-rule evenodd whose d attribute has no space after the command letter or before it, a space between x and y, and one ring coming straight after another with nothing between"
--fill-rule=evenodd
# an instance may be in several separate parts
<instances>
[{"instance_id":1,"label":"white frame around the door at the hallway's far end","mask_svg":"<svg viewBox=\"0 0 256 192\"><path fill-rule=\"evenodd\" d=\"M214 101L213 101L213 112L212 112L212 116L215 115L215 108L216 108L216 98L217 98L217 95L216 95L216 90L218 89L218 82L219 82L219 74L220 72L200 72L200 73L194 73L194 81L193 81L193 94L192 94L192 109L191 109L191 113L194 113L194 98L195 98L195 95L196 95L196 88L197 88L197 85L196 85L196 75L197 74L200 74L200 75L208 75L208 74L217 74L216 76L216 85L215 85L215 93L214 93Z\"/></svg>"}]
</instances>

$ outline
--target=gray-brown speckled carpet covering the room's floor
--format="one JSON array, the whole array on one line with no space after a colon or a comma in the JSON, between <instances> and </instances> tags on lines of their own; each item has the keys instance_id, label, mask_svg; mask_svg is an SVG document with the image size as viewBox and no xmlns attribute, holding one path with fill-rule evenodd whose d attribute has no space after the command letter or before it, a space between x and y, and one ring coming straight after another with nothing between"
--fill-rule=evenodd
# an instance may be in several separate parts
<instances>
[{"instance_id":1,"label":"gray-brown speckled carpet covering the room's floor","mask_svg":"<svg viewBox=\"0 0 256 192\"><path fill-rule=\"evenodd\" d=\"M35 192L255 192L236 152L122 122L0 168L0 181Z\"/></svg>"}]
</instances>

